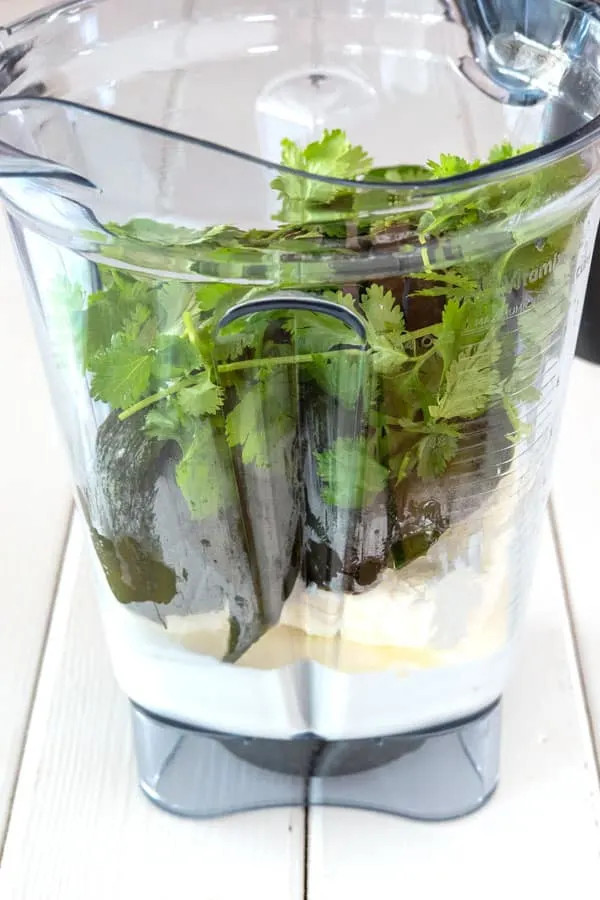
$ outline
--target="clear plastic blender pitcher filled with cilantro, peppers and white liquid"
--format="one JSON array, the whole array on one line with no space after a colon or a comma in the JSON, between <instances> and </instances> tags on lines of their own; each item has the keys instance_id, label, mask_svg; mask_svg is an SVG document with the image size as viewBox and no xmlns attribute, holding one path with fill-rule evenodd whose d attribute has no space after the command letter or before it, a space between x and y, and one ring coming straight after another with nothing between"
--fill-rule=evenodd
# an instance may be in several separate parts
<instances>
[{"instance_id":1,"label":"clear plastic blender pitcher filled with cilantro, peppers and white liquid","mask_svg":"<svg viewBox=\"0 0 600 900\"><path fill-rule=\"evenodd\" d=\"M600 23L84 0L0 46L0 191L142 788L477 808L598 224Z\"/></svg>"}]
</instances>

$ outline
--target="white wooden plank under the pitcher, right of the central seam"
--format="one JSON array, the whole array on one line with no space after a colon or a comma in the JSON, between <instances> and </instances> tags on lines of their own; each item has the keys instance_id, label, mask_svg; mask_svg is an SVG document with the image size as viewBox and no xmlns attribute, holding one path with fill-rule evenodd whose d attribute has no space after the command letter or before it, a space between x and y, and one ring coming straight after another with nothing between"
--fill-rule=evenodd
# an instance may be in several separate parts
<instances>
[{"instance_id":1,"label":"white wooden plank under the pitcher, right of the central seam","mask_svg":"<svg viewBox=\"0 0 600 900\"><path fill-rule=\"evenodd\" d=\"M310 900L598 896L600 802L560 576L545 527L504 704L500 787L444 824L344 810L310 819Z\"/></svg>"}]
</instances>

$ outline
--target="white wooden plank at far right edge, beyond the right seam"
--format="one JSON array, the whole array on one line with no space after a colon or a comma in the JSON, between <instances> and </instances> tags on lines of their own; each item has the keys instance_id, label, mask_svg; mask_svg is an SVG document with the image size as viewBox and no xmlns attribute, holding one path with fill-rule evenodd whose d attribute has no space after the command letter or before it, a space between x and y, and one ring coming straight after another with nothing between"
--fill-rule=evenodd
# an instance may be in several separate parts
<instances>
[{"instance_id":1,"label":"white wooden plank at far right edge, beyond the right seam","mask_svg":"<svg viewBox=\"0 0 600 900\"><path fill-rule=\"evenodd\" d=\"M552 503L595 744L600 753L600 366L576 360ZM600 755L598 756L600 763Z\"/></svg>"}]
</instances>

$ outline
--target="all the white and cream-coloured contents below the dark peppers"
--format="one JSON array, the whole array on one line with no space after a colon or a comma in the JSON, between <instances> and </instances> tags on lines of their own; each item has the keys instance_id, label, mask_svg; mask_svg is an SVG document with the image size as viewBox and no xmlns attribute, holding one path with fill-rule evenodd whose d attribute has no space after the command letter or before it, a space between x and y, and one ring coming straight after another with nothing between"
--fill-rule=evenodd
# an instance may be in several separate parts
<instances>
[{"instance_id":1,"label":"all the white and cream-coloured contents below the dark peppers","mask_svg":"<svg viewBox=\"0 0 600 900\"><path fill-rule=\"evenodd\" d=\"M509 664L510 481L364 594L297 585L280 624L236 664L209 655L227 647L226 610L167 617L165 630L121 606L102 577L122 689L175 721L272 738L410 732L481 710L502 693Z\"/></svg>"}]
</instances>

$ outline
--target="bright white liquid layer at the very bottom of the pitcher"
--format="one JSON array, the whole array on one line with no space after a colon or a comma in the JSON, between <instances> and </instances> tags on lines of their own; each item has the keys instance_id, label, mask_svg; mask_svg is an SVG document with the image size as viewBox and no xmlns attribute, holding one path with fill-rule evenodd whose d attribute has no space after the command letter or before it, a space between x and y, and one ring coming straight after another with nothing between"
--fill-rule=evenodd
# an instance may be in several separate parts
<instances>
[{"instance_id":1,"label":"bright white liquid layer at the very bottom of the pitcher","mask_svg":"<svg viewBox=\"0 0 600 900\"><path fill-rule=\"evenodd\" d=\"M102 604L115 673L140 706L175 721L256 737L395 734L468 716L502 693L508 648L465 663L346 674L313 661L224 665L174 644L111 597Z\"/></svg>"}]
</instances>

